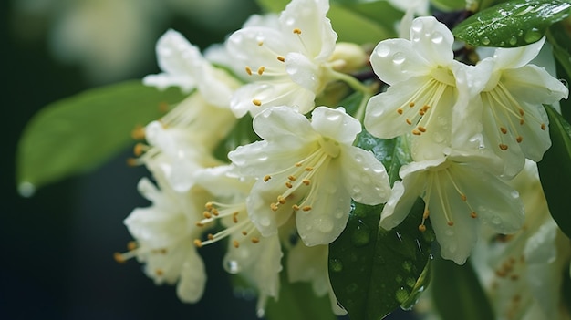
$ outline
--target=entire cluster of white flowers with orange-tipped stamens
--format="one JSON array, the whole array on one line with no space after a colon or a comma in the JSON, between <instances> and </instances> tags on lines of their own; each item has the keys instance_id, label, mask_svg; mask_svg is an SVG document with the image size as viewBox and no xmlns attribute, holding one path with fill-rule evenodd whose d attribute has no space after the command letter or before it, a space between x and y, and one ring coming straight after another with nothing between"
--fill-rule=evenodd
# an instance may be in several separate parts
<instances>
[{"instance_id":1,"label":"entire cluster of white flowers with orange-tipped stamens","mask_svg":"<svg viewBox=\"0 0 571 320\"><path fill-rule=\"evenodd\" d=\"M135 162L157 186L140 181L152 204L126 219L136 242L119 261L137 257L157 284L177 284L182 301L196 302L207 274L199 253L225 240L223 266L256 289L258 315L278 298L284 266L289 281L328 294L341 315L327 244L346 228L352 201L386 203L380 227L391 229L420 197L419 230L430 219L441 256L459 264L481 222L502 234L522 228L524 202L506 181L526 159L542 159L550 146L542 104L568 94L529 64L544 40L496 49L472 66L455 59L446 26L419 17L410 38L379 42L370 53L379 78L360 82L353 72L369 67L368 53L337 43L328 9L326 0L293 0L279 16L254 15L205 54L176 31L161 37L162 73L144 83L188 97L149 123L136 148ZM371 98L379 80L382 92ZM361 91L361 108L319 106L339 83ZM244 124L255 138L236 133ZM383 163L355 146L363 126L410 146L412 161L392 188Z\"/></svg>"}]
</instances>

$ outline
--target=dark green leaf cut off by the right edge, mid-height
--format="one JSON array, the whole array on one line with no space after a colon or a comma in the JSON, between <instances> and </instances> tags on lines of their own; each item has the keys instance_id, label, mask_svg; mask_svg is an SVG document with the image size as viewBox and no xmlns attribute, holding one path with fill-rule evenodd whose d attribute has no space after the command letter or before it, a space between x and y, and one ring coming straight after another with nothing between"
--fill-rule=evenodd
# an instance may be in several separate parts
<instances>
[{"instance_id":1,"label":"dark green leaf cut off by the right edge, mid-height","mask_svg":"<svg viewBox=\"0 0 571 320\"><path fill-rule=\"evenodd\" d=\"M543 160L537 163L537 167L549 212L559 228L571 238L571 197L569 189L562 185L571 181L571 125L555 108L545 106L545 111L549 117L552 145L545 152Z\"/></svg>"}]
</instances>

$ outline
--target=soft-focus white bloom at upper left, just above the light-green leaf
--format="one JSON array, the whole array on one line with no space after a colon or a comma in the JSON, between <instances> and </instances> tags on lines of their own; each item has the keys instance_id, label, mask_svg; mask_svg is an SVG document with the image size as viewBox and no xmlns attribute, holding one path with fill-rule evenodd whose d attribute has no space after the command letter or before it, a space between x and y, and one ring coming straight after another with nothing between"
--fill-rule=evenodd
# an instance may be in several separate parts
<instances>
[{"instance_id":1,"label":"soft-focus white bloom at upper left, just above the light-green leaf","mask_svg":"<svg viewBox=\"0 0 571 320\"><path fill-rule=\"evenodd\" d=\"M145 77L144 84L160 89L175 86L184 92L198 88L209 104L228 108L237 82L213 67L180 33L168 30L161 36L157 41L157 56L163 73Z\"/></svg>"}]
</instances>

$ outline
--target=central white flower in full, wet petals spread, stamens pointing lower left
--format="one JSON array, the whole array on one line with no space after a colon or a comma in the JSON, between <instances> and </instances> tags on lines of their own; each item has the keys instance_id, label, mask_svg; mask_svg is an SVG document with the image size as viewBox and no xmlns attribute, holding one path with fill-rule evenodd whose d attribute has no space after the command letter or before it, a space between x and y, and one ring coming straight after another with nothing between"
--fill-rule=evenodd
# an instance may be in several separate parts
<instances>
[{"instance_id":1,"label":"central white flower in full, wet petals spread, stamens pointing lower left","mask_svg":"<svg viewBox=\"0 0 571 320\"><path fill-rule=\"evenodd\" d=\"M295 212L304 243L331 243L345 228L351 198L388 199L387 172L372 152L352 146L361 126L344 108L316 108L311 122L288 107L268 108L254 118L254 130L264 140L228 158L258 179L247 205L263 235L275 234Z\"/></svg>"}]
</instances>

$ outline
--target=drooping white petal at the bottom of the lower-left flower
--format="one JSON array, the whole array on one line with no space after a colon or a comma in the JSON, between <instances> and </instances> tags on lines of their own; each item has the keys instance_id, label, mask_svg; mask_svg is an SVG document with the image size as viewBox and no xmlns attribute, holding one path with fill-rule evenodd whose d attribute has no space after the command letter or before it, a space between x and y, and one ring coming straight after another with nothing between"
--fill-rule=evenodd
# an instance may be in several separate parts
<instances>
[{"instance_id":1,"label":"drooping white petal at the bottom of the lower-left flower","mask_svg":"<svg viewBox=\"0 0 571 320\"><path fill-rule=\"evenodd\" d=\"M189 248L187 258L182 263L181 278L176 286L176 294L185 303L199 301L206 284L206 271L202 258L194 248Z\"/></svg>"}]
</instances>

